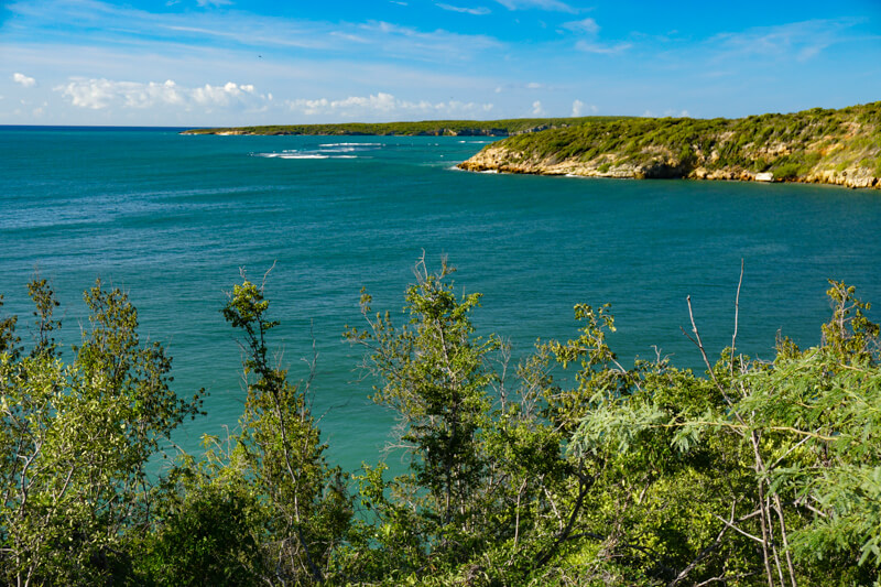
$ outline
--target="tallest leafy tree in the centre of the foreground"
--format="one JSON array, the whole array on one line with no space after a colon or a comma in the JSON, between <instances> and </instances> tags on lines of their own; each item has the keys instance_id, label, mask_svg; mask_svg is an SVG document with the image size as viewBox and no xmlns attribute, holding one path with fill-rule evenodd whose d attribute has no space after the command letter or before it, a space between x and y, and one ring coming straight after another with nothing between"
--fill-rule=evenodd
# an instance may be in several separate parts
<instances>
[{"instance_id":1,"label":"tallest leafy tree in the centre of the foreground","mask_svg":"<svg viewBox=\"0 0 881 587\"><path fill-rule=\"evenodd\" d=\"M373 401L396 413L394 444L412 454L413 472L400 477L396 489L410 493L427 524L423 540L436 540L432 547L439 551L455 550L481 517L474 497L487 464L478 435L489 424L487 389L496 380L487 355L499 347L496 338L472 336L468 315L480 294L458 297L444 281L452 272L446 261L437 274L424 259L417 263L416 283L405 294L410 325L401 328L388 313L372 316L371 297L362 292L369 329L346 333L368 348L368 368L383 380Z\"/></svg>"}]
</instances>

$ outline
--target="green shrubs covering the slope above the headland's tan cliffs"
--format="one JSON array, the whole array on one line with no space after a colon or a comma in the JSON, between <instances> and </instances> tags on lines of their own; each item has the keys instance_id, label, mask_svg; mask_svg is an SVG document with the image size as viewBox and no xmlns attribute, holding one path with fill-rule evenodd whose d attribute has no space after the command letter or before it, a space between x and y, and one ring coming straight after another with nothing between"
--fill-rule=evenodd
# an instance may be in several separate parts
<instances>
[{"instance_id":1,"label":"green shrubs covering the slope above the headland's tan cliffs","mask_svg":"<svg viewBox=\"0 0 881 587\"><path fill-rule=\"evenodd\" d=\"M611 165L657 162L678 170L682 176L700 166L709 171L772 172L775 178L787 180L807 175L818 165L823 170L840 166L838 171L842 171L855 160L874 170L881 166L879 137L881 102L873 102L730 120L587 119L511 137L492 148L504 148L519 161L590 162L603 165L606 171Z\"/></svg>"}]
</instances>

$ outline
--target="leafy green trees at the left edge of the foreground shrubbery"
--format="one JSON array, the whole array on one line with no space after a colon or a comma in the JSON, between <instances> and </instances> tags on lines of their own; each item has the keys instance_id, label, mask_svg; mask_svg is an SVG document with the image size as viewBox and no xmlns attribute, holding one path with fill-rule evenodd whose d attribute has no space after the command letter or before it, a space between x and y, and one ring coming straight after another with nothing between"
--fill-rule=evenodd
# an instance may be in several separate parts
<instances>
[{"instance_id":1,"label":"leafy green trees at the left edge of the foreground shrubbery","mask_svg":"<svg viewBox=\"0 0 881 587\"><path fill-rule=\"evenodd\" d=\"M10 584L119 581L150 523L148 460L198 414L200 394L168 389L171 361L140 343L119 290L86 292L90 328L70 365L51 338L61 326L52 290L35 280L29 292L33 350L0 354L0 573Z\"/></svg>"}]
</instances>

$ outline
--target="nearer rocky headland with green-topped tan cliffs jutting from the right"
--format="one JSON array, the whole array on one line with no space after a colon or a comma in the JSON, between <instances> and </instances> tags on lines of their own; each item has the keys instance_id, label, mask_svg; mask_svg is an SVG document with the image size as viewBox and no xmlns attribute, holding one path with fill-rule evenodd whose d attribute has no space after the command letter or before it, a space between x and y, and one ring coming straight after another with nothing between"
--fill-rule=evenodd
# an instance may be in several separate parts
<instances>
[{"instance_id":1,"label":"nearer rocky headland with green-topped tan cliffs jutting from the right","mask_svg":"<svg viewBox=\"0 0 881 587\"><path fill-rule=\"evenodd\" d=\"M740 119L587 120L487 145L477 172L881 188L881 102Z\"/></svg>"}]
</instances>

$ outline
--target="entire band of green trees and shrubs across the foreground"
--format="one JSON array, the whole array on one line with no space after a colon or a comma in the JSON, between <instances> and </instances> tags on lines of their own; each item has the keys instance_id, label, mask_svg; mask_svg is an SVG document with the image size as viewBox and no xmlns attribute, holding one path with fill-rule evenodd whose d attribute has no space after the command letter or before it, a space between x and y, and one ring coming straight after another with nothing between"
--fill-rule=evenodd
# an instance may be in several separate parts
<instances>
[{"instance_id":1,"label":"entire band of green trees and shrubs across the foreground","mask_svg":"<svg viewBox=\"0 0 881 587\"><path fill-rule=\"evenodd\" d=\"M76 358L35 281L36 344L0 322L0 574L9 585L871 585L881 569L879 328L830 282L823 341L772 362L725 349L696 374L624 368L608 306L516 368L476 336L479 295L417 265L407 324L373 313L374 401L410 470L328 465L308 382L268 360L262 286L236 285L244 413L159 478L148 459L200 396L167 385L124 294L100 284ZM697 350L706 358L696 326ZM736 338L732 340L732 347ZM574 371L561 384L555 369Z\"/></svg>"}]
</instances>

